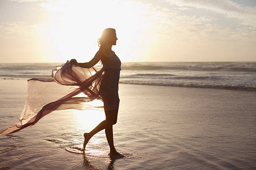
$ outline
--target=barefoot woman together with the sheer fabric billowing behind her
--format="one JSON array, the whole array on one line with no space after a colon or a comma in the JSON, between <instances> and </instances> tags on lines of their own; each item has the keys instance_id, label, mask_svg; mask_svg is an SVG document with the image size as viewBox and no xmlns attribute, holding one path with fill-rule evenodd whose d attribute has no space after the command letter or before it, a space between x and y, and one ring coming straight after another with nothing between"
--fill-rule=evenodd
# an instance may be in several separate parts
<instances>
[{"instance_id":1,"label":"barefoot woman together with the sheer fabric billowing behind her","mask_svg":"<svg viewBox=\"0 0 256 170\"><path fill-rule=\"evenodd\" d=\"M29 79L27 97L19 121L0 131L0 135L12 134L33 126L55 110L83 110L84 107L90 107L83 105L84 102L96 99L104 102L106 120L90 133L84 133L84 149L93 135L105 129L110 155L123 156L115 150L113 143L113 125L118 115L118 82L121 70L121 62L111 50L112 45L116 45L116 40L115 29L107 28L98 40L100 50L90 62L78 63L72 59L70 62L56 66L49 79ZM100 60L103 64L100 70L92 67ZM86 97L77 96L80 93L84 93Z\"/></svg>"}]
</instances>

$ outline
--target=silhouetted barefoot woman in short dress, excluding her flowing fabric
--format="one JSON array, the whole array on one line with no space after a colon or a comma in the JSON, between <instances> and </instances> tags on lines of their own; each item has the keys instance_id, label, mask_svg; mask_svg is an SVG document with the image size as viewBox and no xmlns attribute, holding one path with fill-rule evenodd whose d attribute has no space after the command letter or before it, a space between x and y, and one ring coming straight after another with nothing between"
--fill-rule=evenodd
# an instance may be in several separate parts
<instances>
[{"instance_id":1,"label":"silhouetted barefoot woman in short dress, excluding her flowing fabric","mask_svg":"<svg viewBox=\"0 0 256 170\"><path fill-rule=\"evenodd\" d=\"M84 133L84 149L90 138L93 135L105 129L105 134L110 146L109 155L122 156L115 150L113 143L113 125L117 122L119 97L118 97L118 82L120 77L121 62L119 58L112 51L112 45L116 45L115 29L106 28L103 30L101 37L98 40L100 50L97 51L95 57L90 62L79 63L77 60L72 59L72 65L78 65L83 68L93 67L101 60L103 66L107 65L102 82L100 84L100 96L104 102L104 110L106 119L100 122L90 133Z\"/></svg>"}]
</instances>

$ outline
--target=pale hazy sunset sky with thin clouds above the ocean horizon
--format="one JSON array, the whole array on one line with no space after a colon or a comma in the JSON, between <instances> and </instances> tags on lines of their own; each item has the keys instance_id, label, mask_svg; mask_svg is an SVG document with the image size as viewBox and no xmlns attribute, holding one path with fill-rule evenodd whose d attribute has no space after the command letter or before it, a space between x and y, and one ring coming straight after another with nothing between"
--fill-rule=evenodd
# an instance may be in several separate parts
<instances>
[{"instance_id":1,"label":"pale hazy sunset sky with thin clouds above the ocean horizon","mask_svg":"<svg viewBox=\"0 0 256 170\"><path fill-rule=\"evenodd\" d=\"M105 28L122 62L256 61L256 0L0 0L0 62L88 62Z\"/></svg>"}]
</instances>

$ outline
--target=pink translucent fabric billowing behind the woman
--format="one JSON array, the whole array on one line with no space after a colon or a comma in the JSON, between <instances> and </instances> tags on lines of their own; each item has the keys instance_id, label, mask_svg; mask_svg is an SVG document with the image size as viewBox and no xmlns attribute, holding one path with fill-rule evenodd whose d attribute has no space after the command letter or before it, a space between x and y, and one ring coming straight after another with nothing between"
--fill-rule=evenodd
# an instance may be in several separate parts
<instances>
[{"instance_id":1,"label":"pink translucent fabric billowing behind the woman","mask_svg":"<svg viewBox=\"0 0 256 170\"><path fill-rule=\"evenodd\" d=\"M15 133L35 125L38 120L54 110L103 107L92 107L84 102L95 99L102 101L99 90L106 67L103 65L100 69L82 68L67 61L52 70L51 79L28 80L28 92L20 121L0 131L0 135ZM84 93L86 97L79 97L80 93Z\"/></svg>"}]
</instances>

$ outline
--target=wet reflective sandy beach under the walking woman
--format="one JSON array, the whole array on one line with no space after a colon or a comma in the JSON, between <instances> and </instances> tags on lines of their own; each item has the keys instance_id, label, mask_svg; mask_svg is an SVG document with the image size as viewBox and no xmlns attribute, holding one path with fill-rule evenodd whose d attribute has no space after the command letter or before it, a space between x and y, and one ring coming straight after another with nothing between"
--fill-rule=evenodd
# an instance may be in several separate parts
<instances>
[{"instance_id":1,"label":"wet reflective sandy beach under the walking woman","mask_svg":"<svg viewBox=\"0 0 256 170\"><path fill-rule=\"evenodd\" d=\"M18 121L26 92L26 80L0 81L1 130ZM114 143L131 158L68 152L104 113L66 110L0 136L0 169L256 169L255 91L120 84L119 96ZM108 153L104 131L88 149Z\"/></svg>"}]
</instances>

